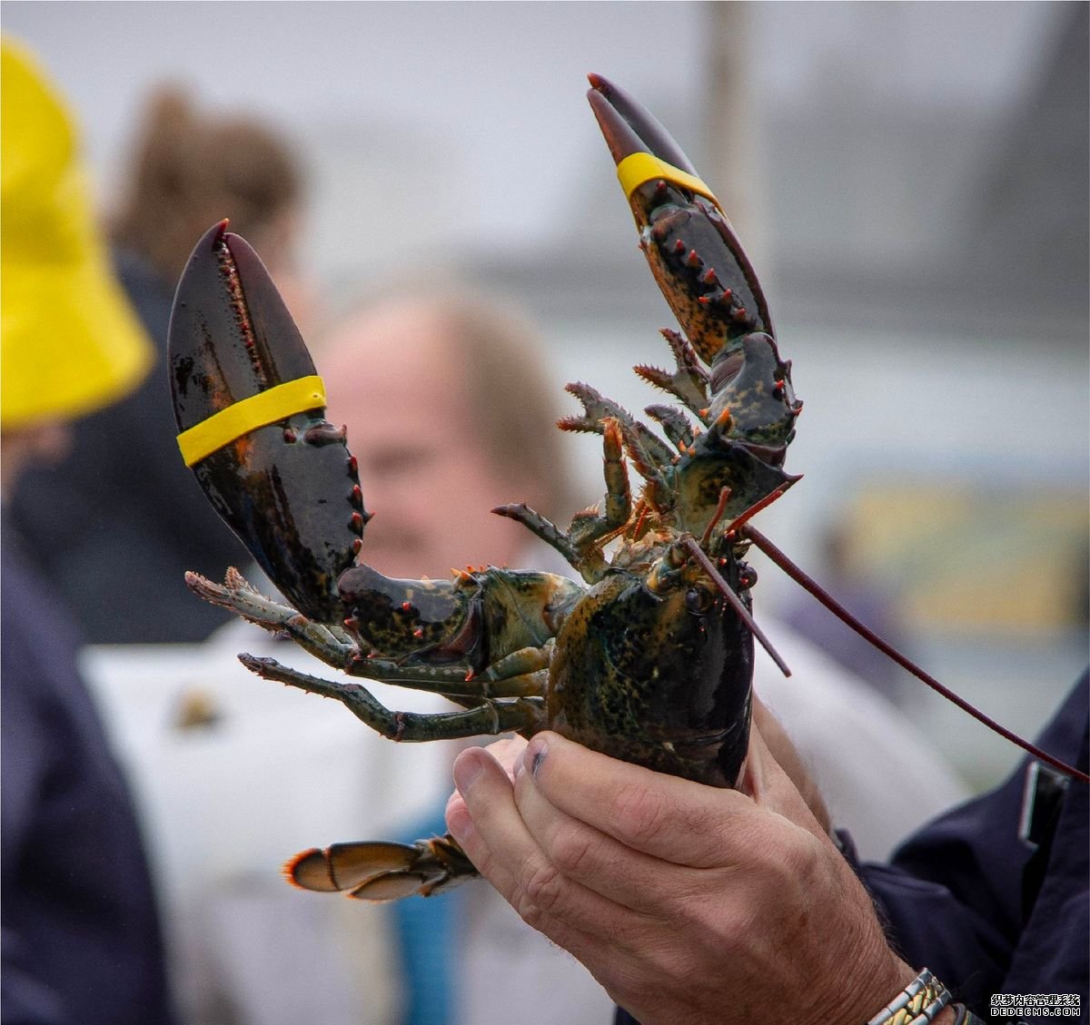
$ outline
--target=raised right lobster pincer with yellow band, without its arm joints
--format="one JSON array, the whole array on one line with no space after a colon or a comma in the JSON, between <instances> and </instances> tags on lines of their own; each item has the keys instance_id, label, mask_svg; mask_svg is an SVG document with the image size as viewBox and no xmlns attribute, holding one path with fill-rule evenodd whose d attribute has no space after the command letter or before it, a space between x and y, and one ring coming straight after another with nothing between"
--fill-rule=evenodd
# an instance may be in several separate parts
<instances>
[{"instance_id":1,"label":"raised right lobster pincer with yellow band, without its arm joints","mask_svg":"<svg viewBox=\"0 0 1090 1025\"><path fill-rule=\"evenodd\" d=\"M655 118L589 75L586 94L640 229L640 246L689 341L711 364L725 343L773 334L764 292L718 200Z\"/></svg>"}]
</instances>

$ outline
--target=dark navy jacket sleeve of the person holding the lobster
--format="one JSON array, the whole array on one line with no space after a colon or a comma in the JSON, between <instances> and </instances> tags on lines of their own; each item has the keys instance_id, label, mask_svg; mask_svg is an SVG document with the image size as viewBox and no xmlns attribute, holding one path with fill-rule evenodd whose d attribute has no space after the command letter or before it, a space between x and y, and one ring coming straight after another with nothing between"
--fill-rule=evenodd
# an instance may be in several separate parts
<instances>
[{"instance_id":1,"label":"dark navy jacket sleeve of the person holding the lobster","mask_svg":"<svg viewBox=\"0 0 1090 1025\"><path fill-rule=\"evenodd\" d=\"M1088 719L1083 676L1039 746L1086 771ZM1087 986L1088 788L1067 785L1038 851L1018 839L1028 765L924 827L889 865L860 870L905 960L927 965L978 1014L993 992ZM1051 988L1059 985L1077 988Z\"/></svg>"}]
</instances>

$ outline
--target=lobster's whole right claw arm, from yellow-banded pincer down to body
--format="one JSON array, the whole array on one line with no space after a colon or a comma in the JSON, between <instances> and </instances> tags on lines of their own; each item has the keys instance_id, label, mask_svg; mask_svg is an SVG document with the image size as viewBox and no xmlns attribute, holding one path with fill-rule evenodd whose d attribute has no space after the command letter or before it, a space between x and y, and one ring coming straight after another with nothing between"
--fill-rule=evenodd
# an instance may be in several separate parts
<instances>
[{"instance_id":1,"label":"lobster's whole right claw arm, from yellow-banded pincer down to body","mask_svg":"<svg viewBox=\"0 0 1090 1025\"><path fill-rule=\"evenodd\" d=\"M586 96L635 217L640 247L692 350L711 367L706 407L694 410L708 429L682 449L677 471L687 527L700 534L715 516L734 518L798 479L782 467L802 404L790 364L779 358L764 292L718 200L638 100L601 75L589 77ZM677 340L671 345L682 354L678 374L637 373L691 402L681 387L691 380L685 346ZM717 509L723 488L731 498Z\"/></svg>"}]
</instances>

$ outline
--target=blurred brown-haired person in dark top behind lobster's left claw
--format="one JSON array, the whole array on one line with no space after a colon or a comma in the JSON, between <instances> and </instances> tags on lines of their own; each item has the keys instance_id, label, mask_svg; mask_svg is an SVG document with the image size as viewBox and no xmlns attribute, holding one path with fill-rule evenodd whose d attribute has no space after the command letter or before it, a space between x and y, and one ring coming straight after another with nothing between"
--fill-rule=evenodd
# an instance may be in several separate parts
<instances>
[{"instance_id":1,"label":"blurred brown-haired person in dark top behind lobster's left claw","mask_svg":"<svg viewBox=\"0 0 1090 1025\"><path fill-rule=\"evenodd\" d=\"M155 366L130 396L75 424L68 456L28 469L12 504L90 643L203 640L227 620L183 582L186 570L232 564L239 548L178 457L167 327L194 243L223 217L259 248L296 317L305 313L292 266L301 192L295 158L270 130L205 114L175 89L150 99L112 234Z\"/></svg>"}]
</instances>

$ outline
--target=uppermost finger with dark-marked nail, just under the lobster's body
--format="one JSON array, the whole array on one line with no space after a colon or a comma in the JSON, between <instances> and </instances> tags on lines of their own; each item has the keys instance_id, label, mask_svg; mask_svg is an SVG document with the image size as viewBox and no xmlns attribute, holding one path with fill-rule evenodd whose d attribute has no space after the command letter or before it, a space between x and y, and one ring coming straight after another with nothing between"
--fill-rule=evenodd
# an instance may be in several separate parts
<instances>
[{"instance_id":1,"label":"uppermost finger with dark-marked nail, just under the lobster's body","mask_svg":"<svg viewBox=\"0 0 1090 1025\"><path fill-rule=\"evenodd\" d=\"M540 733L524 766L549 804L626 847L707 868L744 852L754 804L719 790L607 758L556 733Z\"/></svg>"}]
</instances>

